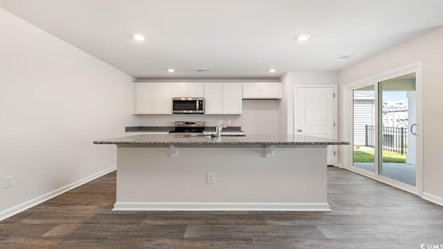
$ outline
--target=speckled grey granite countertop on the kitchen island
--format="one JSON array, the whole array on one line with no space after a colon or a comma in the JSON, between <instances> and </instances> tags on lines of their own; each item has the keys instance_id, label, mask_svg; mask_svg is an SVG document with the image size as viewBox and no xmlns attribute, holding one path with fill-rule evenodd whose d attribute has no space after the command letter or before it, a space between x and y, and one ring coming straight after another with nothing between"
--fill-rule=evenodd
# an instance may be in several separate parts
<instances>
[{"instance_id":1,"label":"speckled grey granite countertop on the kitchen island","mask_svg":"<svg viewBox=\"0 0 443 249\"><path fill-rule=\"evenodd\" d=\"M96 145L350 145L350 142L303 135L222 136L218 140L207 136L142 134L98 140L93 143Z\"/></svg>"}]
</instances>

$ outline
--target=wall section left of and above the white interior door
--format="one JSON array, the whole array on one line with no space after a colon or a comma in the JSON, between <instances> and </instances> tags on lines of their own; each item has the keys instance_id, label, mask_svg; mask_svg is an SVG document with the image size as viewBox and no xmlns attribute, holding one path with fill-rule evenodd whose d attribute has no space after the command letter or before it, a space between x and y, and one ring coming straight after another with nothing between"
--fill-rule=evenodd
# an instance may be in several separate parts
<instances>
[{"instance_id":1,"label":"wall section left of and above the white interior door","mask_svg":"<svg viewBox=\"0 0 443 249\"><path fill-rule=\"evenodd\" d=\"M283 75L282 102L280 103L279 133L294 133L294 95L295 85L336 85L338 73L335 72L289 72ZM285 123L284 123L285 122ZM286 129L285 129L286 128Z\"/></svg>"}]
</instances>

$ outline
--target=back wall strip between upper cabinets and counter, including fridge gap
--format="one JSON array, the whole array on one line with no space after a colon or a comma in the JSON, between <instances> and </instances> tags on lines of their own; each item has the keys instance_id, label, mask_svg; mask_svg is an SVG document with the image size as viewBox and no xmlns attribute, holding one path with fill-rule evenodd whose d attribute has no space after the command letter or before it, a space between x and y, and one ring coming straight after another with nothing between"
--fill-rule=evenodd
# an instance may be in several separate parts
<instances>
[{"instance_id":1,"label":"back wall strip between upper cabinets and counter, including fridge gap","mask_svg":"<svg viewBox=\"0 0 443 249\"><path fill-rule=\"evenodd\" d=\"M226 126L242 127L245 134L277 134L278 104L280 100L243 100L242 115L138 115L138 126L174 126L174 121L205 121L215 126L223 120ZM263 124L258 120L262 119ZM158 120L158 123L155 123ZM228 124L228 120L231 121Z\"/></svg>"}]
</instances>

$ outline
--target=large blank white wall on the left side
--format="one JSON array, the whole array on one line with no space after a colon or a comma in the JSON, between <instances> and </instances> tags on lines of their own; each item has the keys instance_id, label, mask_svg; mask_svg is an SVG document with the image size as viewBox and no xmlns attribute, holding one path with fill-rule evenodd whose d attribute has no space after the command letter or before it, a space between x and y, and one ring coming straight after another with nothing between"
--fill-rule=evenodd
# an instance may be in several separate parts
<instances>
[{"instance_id":1,"label":"large blank white wall on the left side","mask_svg":"<svg viewBox=\"0 0 443 249\"><path fill-rule=\"evenodd\" d=\"M116 148L93 140L135 122L132 77L5 10L0 18L1 220L116 165Z\"/></svg>"}]
</instances>

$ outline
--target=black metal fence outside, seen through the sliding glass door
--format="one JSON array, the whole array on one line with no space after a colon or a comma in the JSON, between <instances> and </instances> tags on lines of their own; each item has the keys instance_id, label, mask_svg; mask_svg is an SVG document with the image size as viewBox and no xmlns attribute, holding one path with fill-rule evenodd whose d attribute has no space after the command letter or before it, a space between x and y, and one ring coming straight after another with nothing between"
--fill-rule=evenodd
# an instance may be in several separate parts
<instances>
[{"instance_id":1,"label":"black metal fence outside, seen through the sliding glass door","mask_svg":"<svg viewBox=\"0 0 443 249\"><path fill-rule=\"evenodd\" d=\"M383 151L408 153L408 128L381 127L383 133ZM373 125L365 127L365 146L374 148L375 129Z\"/></svg>"}]
</instances>

